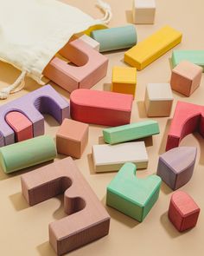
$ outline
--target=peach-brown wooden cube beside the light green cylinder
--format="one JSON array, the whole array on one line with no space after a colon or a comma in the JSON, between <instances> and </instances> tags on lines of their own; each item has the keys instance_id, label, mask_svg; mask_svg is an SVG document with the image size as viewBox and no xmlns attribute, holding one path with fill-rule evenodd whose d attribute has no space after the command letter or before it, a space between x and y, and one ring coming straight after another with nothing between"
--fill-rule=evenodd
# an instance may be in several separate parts
<instances>
[{"instance_id":1,"label":"peach-brown wooden cube beside the light green cylinder","mask_svg":"<svg viewBox=\"0 0 204 256\"><path fill-rule=\"evenodd\" d=\"M88 142L88 125L65 119L56 134L57 152L80 158Z\"/></svg>"}]
</instances>

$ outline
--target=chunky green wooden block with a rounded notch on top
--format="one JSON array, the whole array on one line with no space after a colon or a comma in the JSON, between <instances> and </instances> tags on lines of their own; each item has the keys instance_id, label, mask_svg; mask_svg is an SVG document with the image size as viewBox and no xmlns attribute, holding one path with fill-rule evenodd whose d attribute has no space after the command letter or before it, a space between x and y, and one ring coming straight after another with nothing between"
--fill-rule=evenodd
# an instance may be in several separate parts
<instances>
[{"instance_id":1,"label":"chunky green wooden block with a rounded notch on top","mask_svg":"<svg viewBox=\"0 0 204 256\"><path fill-rule=\"evenodd\" d=\"M150 175L137 179L136 166L125 163L107 187L106 204L140 222L156 203L161 187L161 178Z\"/></svg>"}]
</instances>

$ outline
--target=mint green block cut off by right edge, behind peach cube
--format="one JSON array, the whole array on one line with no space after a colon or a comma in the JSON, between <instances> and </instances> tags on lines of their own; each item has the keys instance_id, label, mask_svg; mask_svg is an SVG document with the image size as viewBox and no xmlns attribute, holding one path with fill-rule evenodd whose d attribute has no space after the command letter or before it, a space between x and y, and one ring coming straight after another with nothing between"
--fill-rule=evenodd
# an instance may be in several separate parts
<instances>
[{"instance_id":1,"label":"mint green block cut off by right edge, behind peach cube","mask_svg":"<svg viewBox=\"0 0 204 256\"><path fill-rule=\"evenodd\" d=\"M173 68L182 61L192 62L201 66L204 71L204 50L175 49L171 57Z\"/></svg>"}]
</instances>

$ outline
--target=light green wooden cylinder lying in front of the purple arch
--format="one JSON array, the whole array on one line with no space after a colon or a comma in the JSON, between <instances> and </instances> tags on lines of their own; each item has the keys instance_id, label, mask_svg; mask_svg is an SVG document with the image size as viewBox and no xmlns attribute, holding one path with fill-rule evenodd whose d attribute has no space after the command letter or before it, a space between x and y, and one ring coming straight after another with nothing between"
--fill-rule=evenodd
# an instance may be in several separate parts
<instances>
[{"instance_id":1,"label":"light green wooden cylinder lying in front of the purple arch","mask_svg":"<svg viewBox=\"0 0 204 256\"><path fill-rule=\"evenodd\" d=\"M5 174L51 161L56 157L54 140L47 135L0 148L0 164Z\"/></svg>"}]
</instances>

